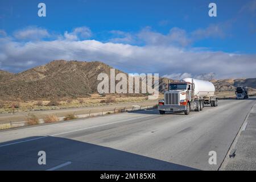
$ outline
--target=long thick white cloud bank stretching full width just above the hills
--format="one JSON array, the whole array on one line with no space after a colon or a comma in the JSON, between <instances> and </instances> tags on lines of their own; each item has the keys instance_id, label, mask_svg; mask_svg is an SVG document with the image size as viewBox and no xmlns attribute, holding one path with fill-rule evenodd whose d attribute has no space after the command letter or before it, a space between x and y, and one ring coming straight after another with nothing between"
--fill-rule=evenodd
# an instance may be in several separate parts
<instances>
[{"instance_id":1,"label":"long thick white cloud bank stretching full width just above the hills","mask_svg":"<svg viewBox=\"0 0 256 182\"><path fill-rule=\"evenodd\" d=\"M163 38L184 43L184 31L176 28L168 35L149 30L146 34L152 36L144 46L73 38L24 43L0 37L0 65L1 69L20 72L51 60L98 60L128 73L159 73L178 80L209 72L216 73L217 78L256 77L256 55L157 43L165 41Z\"/></svg>"}]
</instances>

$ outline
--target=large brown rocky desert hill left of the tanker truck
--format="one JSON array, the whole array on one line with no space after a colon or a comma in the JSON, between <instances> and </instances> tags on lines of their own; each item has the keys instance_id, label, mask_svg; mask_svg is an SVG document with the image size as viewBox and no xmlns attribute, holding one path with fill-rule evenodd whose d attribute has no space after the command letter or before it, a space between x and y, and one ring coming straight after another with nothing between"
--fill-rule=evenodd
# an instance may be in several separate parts
<instances>
[{"instance_id":1,"label":"large brown rocky desert hill left of the tanker truck","mask_svg":"<svg viewBox=\"0 0 256 182\"><path fill-rule=\"evenodd\" d=\"M111 68L99 61L56 60L15 75L1 71L0 99L86 97L88 93L97 92L98 74L110 75ZM119 72L115 69L116 74Z\"/></svg>"}]
</instances>

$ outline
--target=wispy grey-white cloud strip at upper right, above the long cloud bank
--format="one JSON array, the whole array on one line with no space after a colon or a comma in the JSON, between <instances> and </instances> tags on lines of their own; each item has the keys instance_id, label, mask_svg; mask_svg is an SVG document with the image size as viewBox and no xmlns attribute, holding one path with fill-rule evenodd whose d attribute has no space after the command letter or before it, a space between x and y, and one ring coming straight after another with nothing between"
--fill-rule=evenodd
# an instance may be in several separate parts
<instances>
[{"instance_id":1,"label":"wispy grey-white cloud strip at upper right, above the long cloud bank","mask_svg":"<svg viewBox=\"0 0 256 182\"><path fill-rule=\"evenodd\" d=\"M229 23L210 24L206 28L199 28L192 32L173 27L167 34L153 31L151 27L145 27L137 33L110 31L114 38L109 39L113 43L144 43L151 46L191 46L193 42L205 38L224 38Z\"/></svg>"}]
</instances>

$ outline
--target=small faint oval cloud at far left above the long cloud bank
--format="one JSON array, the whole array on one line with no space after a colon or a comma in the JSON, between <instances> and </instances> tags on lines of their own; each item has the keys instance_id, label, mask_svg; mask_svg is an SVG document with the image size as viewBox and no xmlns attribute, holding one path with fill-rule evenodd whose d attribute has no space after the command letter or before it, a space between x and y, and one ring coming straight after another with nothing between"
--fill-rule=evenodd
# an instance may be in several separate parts
<instances>
[{"instance_id":1,"label":"small faint oval cloud at far left above the long cloud bank","mask_svg":"<svg viewBox=\"0 0 256 182\"><path fill-rule=\"evenodd\" d=\"M27 27L14 32L14 37L20 40L40 40L49 36L48 31L40 27Z\"/></svg>"}]
</instances>

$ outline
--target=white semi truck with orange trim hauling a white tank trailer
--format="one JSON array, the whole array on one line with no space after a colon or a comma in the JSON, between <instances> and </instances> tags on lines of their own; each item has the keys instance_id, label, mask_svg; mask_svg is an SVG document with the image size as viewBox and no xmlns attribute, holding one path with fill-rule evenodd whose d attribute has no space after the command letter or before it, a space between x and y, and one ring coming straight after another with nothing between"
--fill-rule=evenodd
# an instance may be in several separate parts
<instances>
[{"instance_id":1,"label":"white semi truck with orange trim hauling a white tank trailer","mask_svg":"<svg viewBox=\"0 0 256 182\"><path fill-rule=\"evenodd\" d=\"M171 111L188 115L192 110L203 110L205 104L216 107L218 98L214 92L212 82L196 78L184 78L180 82L169 83L168 90L164 92L164 100L158 102L159 113Z\"/></svg>"}]
</instances>

